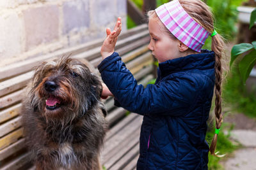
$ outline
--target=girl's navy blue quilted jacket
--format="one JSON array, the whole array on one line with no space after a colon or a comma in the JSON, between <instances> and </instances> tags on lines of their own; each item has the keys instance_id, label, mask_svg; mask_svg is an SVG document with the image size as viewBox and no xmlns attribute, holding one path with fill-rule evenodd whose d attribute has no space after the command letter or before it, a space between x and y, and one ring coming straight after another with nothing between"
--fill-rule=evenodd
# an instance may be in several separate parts
<instances>
[{"instance_id":1,"label":"girl's navy blue quilted jacket","mask_svg":"<svg viewBox=\"0 0 256 170\"><path fill-rule=\"evenodd\" d=\"M137 85L114 52L98 69L126 110L143 115L137 169L207 169L205 141L214 90L214 52L159 64L154 85Z\"/></svg>"}]
</instances>

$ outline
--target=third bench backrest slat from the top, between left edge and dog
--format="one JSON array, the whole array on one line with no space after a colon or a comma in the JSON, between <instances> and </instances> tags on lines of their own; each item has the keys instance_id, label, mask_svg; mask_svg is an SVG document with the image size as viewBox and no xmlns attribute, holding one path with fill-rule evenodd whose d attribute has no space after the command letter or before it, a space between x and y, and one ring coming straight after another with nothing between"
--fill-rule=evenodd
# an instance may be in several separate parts
<instances>
[{"instance_id":1,"label":"third bench backrest slat from the top, between left edge and dog","mask_svg":"<svg viewBox=\"0 0 256 170\"><path fill-rule=\"evenodd\" d=\"M0 97L0 109L3 109L12 104L18 103L22 99L22 94L24 90L19 90L12 94L8 94L7 96Z\"/></svg>"}]
</instances>

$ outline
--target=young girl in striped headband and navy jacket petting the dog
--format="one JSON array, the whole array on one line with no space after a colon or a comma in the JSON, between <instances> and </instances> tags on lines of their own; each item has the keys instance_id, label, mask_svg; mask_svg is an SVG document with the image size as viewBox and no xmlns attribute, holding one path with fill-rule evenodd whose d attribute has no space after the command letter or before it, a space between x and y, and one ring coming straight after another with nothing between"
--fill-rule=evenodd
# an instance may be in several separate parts
<instances>
[{"instance_id":1,"label":"young girl in striped headband and navy jacket petting the dog","mask_svg":"<svg viewBox=\"0 0 256 170\"><path fill-rule=\"evenodd\" d=\"M143 115L137 169L207 169L215 155L221 116L223 41L214 31L212 13L200 0L174 0L148 12L149 50L159 62L154 85L137 85L114 52L121 19L107 29L98 68L106 83L102 97ZM201 50L211 35L212 51ZM215 85L216 134L205 141Z\"/></svg>"}]
</instances>

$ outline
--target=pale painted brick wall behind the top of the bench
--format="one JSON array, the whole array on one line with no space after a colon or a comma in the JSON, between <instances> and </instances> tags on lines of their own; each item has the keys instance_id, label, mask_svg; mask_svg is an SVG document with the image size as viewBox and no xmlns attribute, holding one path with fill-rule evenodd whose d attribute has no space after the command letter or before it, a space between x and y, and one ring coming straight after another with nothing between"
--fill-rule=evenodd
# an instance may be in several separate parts
<instances>
[{"instance_id":1,"label":"pale painted brick wall behind the top of the bench","mask_svg":"<svg viewBox=\"0 0 256 170\"><path fill-rule=\"evenodd\" d=\"M0 0L0 66L106 36L126 0Z\"/></svg>"}]
</instances>

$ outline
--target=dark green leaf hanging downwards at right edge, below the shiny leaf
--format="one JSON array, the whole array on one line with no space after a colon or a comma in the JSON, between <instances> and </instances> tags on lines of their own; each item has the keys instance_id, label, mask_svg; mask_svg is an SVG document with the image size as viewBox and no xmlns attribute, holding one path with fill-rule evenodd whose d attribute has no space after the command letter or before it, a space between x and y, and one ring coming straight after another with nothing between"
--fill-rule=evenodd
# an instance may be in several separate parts
<instances>
[{"instance_id":1,"label":"dark green leaf hanging downwards at right edge, below the shiny leaf","mask_svg":"<svg viewBox=\"0 0 256 170\"><path fill-rule=\"evenodd\" d=\"M244 56L244 58L239 63L239 72L242 76L243 82L247 80L248 76L250 75L253 66L256 63L256 50L248 53Z\"/></svg>"}]
</instances>

